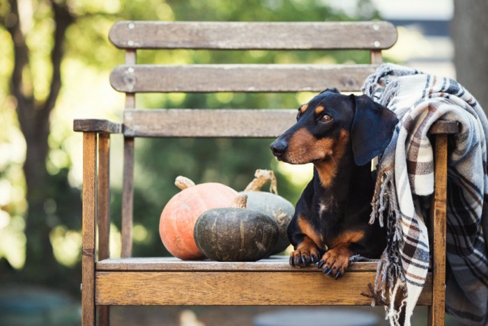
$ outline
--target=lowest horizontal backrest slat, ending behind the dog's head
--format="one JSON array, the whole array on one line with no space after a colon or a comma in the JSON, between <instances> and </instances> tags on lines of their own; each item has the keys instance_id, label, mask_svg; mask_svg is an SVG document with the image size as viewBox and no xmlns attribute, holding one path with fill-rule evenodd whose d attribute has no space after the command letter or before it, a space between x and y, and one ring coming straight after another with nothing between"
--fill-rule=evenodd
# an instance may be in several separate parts
<instances>
[{"instance_id":1,"label":"lowest horizontal backrest slat, ending behind the dog's head","mask_svg":"<svg viewBox=\"0 0 488 326\"><path fill-rule=\"evenodd\" d=\"M129 137L278 137L296 121L291 109L127 109Z\"/></svg>"}]
</instances>

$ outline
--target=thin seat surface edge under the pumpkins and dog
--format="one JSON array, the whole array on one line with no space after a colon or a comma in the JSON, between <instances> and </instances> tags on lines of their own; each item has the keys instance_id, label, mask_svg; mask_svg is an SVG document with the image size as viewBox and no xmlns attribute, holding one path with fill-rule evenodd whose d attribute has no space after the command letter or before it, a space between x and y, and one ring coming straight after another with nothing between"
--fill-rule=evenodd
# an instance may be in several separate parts
<instances>
[{"instance_id":1,"label":"thin seat surface edge under the pumpkins and dog","mask_svg":"<svg viewBox=\"0 0 488 326\"><path fill-rule=\"evenodd\" d=\"M317 266L291 267L287 256L272 256L256 262L182 261L174 257L112 258L98 261L98 271L241 271L241 272L321 272ZM376 262L356 262L349 272L376 272Z\"/></svg>"}]
</instances>

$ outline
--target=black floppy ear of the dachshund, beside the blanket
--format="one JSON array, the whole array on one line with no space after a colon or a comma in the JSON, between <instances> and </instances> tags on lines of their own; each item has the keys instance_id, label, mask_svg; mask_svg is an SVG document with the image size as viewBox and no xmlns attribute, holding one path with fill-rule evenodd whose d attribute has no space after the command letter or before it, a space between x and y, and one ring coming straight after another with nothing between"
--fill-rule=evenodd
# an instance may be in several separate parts
<instances>
[{"instance_id":1,"label":"black floppy ear of the dachshund, beside the blanket","mask_svg":"<svg viewBox=\"0 0 488 326\"><path fill-rule=\"evenodd\" d=\"M391 137L397 116L387 107L373 102L366 95L351 95L354 119L351 126L351 143L354 162L362 166L383 153Z\"/></svg>"}]
</instances>

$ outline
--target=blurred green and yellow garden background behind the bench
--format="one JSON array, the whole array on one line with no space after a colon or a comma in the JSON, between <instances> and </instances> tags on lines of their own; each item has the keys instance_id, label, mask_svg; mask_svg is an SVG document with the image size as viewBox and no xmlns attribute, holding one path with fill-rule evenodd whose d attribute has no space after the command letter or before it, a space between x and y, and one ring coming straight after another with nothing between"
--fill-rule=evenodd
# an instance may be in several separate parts
<instances>
[{"instance_id":1,"label":"blurred green and yellow garden background behind the bench","mask_svg":"<svg viewBox=\"0 0 488 326\"><path fill-rule=\"evenodd\" d=\"M73 132L73 119L121 121L123 94L108 81L109 72L123 63L123 52L107 39L114 22L388 20L397 26L399 40L383 53L386 61L457 78L488 107L487 14L486 0L0 1L0 325L80 323L82 136ZM360 51L138 52L139 63L165 64L367 63L368 58ZM136 106L295 108L312 95L171 93L141 95ZM280 194L295 203L312 167L276 162L270 141L137 139L134 256L167 255L158 222L177 192L178 175L241 190L255 169L273 169ZM115 258L121 249L121 137L112 137L112 144L110 251ZM250 325L265 310L113 309L112 320L114 325L177 325L199 318L206 325Z\"/></svg>"}]
</instances>

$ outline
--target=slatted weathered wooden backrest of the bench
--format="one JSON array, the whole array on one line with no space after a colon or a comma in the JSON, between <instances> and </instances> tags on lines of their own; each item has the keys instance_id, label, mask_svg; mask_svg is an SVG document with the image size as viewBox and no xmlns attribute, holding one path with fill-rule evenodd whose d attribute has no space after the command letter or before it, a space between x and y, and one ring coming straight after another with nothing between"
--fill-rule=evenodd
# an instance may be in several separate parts
<instances>
[{"instance_id":1,"label":"slatted weathered wooden backrest of the bench","mask_svg":"<svg viewBox=\"0 0 488 326\"><path fill-rule=\"evenodd\" d=\"M135 93L360 91L397 31L388 22L118 22L109 39L125 50L110 82L126 94L122 256L128 257L134 137L277 137L296 116L294 109L135 109ZM371 63L138 65L137 49L366 49Z\"/></svg>"}]
</instances>

